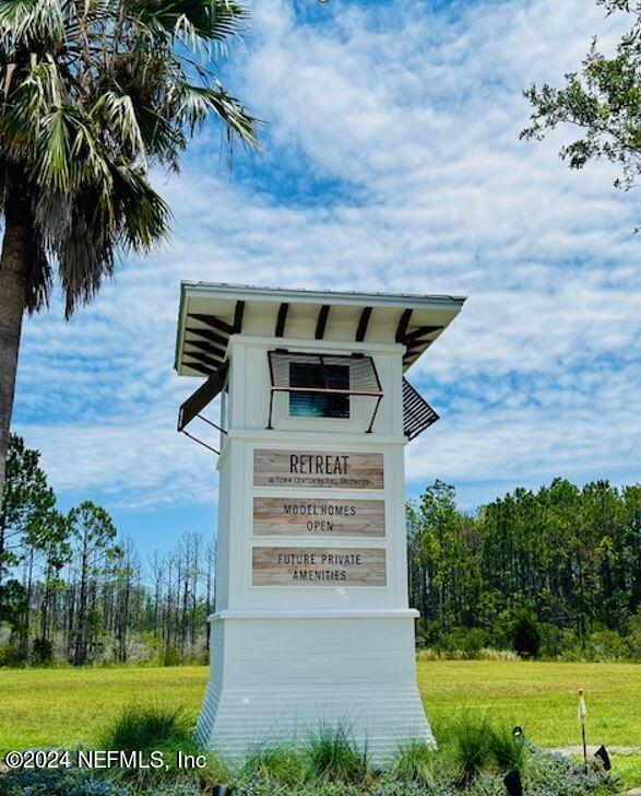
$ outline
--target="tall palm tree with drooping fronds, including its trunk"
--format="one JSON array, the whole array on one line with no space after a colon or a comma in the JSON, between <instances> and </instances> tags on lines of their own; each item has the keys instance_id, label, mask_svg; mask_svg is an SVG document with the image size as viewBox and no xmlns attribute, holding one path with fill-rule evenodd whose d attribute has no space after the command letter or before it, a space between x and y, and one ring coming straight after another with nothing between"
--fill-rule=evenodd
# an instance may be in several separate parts
<instances>
[{"instance_id":1,"label":"tall palm tree with drooping fronds, including its trunk","mask_svg":"<svg viewBox=\"0 0 641 796\"><path fill-rule=\"evenodd\" d=\"M230 0L0 0L0 510L24 313L57 271L69 318L167 235L150 168L177 169L207 117L257 145L211 67L245 20Z\"/></svg>"}]
</instances>

